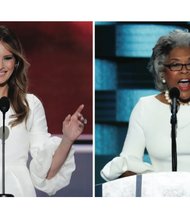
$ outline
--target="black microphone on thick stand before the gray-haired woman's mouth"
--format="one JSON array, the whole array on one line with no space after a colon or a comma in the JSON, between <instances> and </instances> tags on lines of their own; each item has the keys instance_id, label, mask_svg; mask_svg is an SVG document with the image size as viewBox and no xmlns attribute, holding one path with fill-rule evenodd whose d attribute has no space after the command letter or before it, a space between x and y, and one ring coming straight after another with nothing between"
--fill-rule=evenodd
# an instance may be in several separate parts
<instances>
[{"instance_id":1,"label":"black microphone on thick stand before the gray-haired woman's mouth","mask_svg":"<svg viewBox=\"0 0 190 220\"><path fill-rule=\"evenodd\" d=\"M176 144L176 124L177 124L177 99L180 96L180 91L178 88L171 88L169 91L169 96L172 100L171 103L171 139L172 139L172 171L177 171L177 144Z\"/></svg>"}]
</instances>

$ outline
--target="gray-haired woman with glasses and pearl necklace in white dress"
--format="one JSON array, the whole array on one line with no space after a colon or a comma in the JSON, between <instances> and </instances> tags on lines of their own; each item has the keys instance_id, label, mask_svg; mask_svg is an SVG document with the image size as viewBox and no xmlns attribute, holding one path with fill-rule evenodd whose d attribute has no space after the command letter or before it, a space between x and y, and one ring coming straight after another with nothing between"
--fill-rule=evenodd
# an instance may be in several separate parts
<instances>
[{"instance_id":1,"label":"gray-haired woman with glasses and pearl necklace in white dress","mask_svg":"<svg viewBox=\"0 0 190 220\"><path fill-rule=\"evenodd\" d=\"M171 100L176 87L177 171L190 171L190 33L175 30L160 37L149 63L158 95L142 97L134 107L122 152L101 170L105 180L133 174L172 171ZM143 161L145 148L150 163Z\"/></svg>"}]
</instances>

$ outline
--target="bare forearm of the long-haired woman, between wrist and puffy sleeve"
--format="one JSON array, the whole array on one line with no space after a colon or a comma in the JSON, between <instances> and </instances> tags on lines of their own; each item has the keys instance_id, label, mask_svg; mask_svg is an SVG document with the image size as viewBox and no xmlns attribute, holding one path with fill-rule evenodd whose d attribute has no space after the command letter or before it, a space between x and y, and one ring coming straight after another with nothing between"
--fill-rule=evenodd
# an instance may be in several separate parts
<instances>
[{"instance_id":1,"label":"bare forearm of the long-haired woman, between wrist and puffy sleeve","mask_svg":"<svg viewBox=\"0 0 190 220\"><path fill-rule=\"evenodd\" d=\"M52 164L51 164L51 167L50 167L48 174L47 174L47 177L46 177L47 179L51 179L59 171L59 169L64 164L64 162L69 154L69 151L71 149L72 144L73 144L72 141L69 141L64 137L62 138L62 141L61 141L59 147L57 148L57 150L54 153L54 156L52 159Z\"/></svg>"}]
</instances>

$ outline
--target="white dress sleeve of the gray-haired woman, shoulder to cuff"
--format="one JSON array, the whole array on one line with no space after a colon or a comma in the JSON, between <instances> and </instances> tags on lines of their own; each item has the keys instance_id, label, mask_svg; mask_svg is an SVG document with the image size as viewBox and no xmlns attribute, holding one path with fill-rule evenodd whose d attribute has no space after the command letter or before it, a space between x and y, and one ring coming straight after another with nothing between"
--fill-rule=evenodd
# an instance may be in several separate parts
<instances>
[{"instance_id":1,"label":"white dress sleeve of the gray-haired woman, shoulder to cuff","mask_svg":"<svg viewBox=\"0 0 190 220\"><path fill-rule=\"evenodd\" d=\"M143 161L146 143L142 119L142 103L139 101L131 113L122 152L118 157L109 161L100 172L106 181L118 178L125 171L137 174L153 171L152 165Z\"/></svg>"}]
</instances>

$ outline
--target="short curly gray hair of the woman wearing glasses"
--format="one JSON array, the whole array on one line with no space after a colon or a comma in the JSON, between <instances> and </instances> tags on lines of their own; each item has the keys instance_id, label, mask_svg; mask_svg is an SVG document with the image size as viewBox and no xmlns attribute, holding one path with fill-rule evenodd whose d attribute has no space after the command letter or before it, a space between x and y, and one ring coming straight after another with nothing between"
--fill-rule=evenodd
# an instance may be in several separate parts
<instances>
[{"instance_id":1,"label":"short curly gray hair of the woman wearing glasses","mask_svg":"<svg viewBox=\"0 0 190 220\"><path fill-rule=\"evenodd\" d=\"M175 47L190 47L188 30L174 30L168 35L160 37L153 48L148 69L153 74L156 89L160 91L167 89L167 85L162 83L164 63L170 51Z\"/></svg>"}]
</instances>

